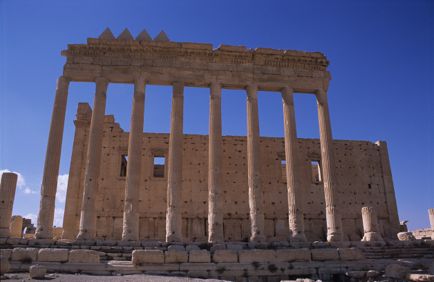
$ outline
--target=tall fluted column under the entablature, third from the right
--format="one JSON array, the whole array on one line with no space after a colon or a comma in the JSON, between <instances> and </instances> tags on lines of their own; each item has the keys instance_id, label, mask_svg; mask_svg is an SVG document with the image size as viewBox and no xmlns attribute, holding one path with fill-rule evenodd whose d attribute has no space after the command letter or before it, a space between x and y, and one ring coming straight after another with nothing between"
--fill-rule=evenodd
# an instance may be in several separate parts
<instances>
[{"instance_id":1,"label":"tall fluted column under the entablature, third from the right","mask_svg":"<svg viewBox=\"0 0 434 282\"><path fill-rule=\"evenodd\" d=\"M247 168L249 177L250 241L267 241L264 235L264 211L261 179L261 143L259 139L258 85L247 92Z\"/></svg>"}]
</instances>

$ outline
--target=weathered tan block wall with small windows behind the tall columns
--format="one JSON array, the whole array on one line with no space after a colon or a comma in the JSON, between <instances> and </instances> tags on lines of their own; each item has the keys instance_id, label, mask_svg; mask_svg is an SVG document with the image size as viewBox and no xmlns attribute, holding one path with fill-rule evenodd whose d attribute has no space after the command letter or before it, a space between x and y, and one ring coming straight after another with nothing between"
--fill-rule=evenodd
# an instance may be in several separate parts
<instances>
[{"instance_id":1,"label":"weathered tan block wall with small windows behind the tall columns","mask_svg":"<svg viewBox=\"0 0 434 282\"><path fill-rule=\"evenodd\" d=\"M81 107L81 108L80 108ZM86 108L86 110L83 110ZM87 151L86 138L90 125L88 105L79 104L77 121L82 134L74 145L82 156ZM78 140L78 138L81 138ZM208 216L208 136L183 135L182 149L182 236L189 241L207 241ZM128 152L129 132L124 132L113 116L105 117L102 162L100 167L100 192L95 200L97 210L96 239L122 239L122 217L125 199L126 177L122 174L122 155ZM325 240L325 197L323 183L312 179L312 161L320 164L319 139L297 139L299 179L303 191L305 234L310 241ZM334 140L337 187L342 197L339 207L342 214L344 240L361 239L364 234L361 208L369 205L377 208L379 232L383 236L396 236L397 214L388 210L385 184L382 177L384 149L369 141ZM153 177L153 158L167 157L169 134L143 133L142 163L139 191L140 240L165 239L167 210L167 159L164 177ZM387 153L387 152L386 152ZM79 181L68 185L64 235L70 238L78 234L79 209L81 208L86 158L82 157ZM261 137L263 210L265 236L288 239L288 203L285 176L285 141L283 138ZM387 162L388 163L388 162ZM317 169L317 167L315 167ZM390 170L390 168L389 168ZM77 174L77 173L76 173ZM313 177L314 178L314 177ZM73 186L75 185L75 186ZM78 186L78 187L77 187ZM223 211L225 241L245 241L249 237L249 197L247 183L247 137L223 137ZM76 207L68 208L73 203ZM396 203L395 203L396 205ZM277 238L279 237L279 238Z\"/></svg>"}]
</instances>

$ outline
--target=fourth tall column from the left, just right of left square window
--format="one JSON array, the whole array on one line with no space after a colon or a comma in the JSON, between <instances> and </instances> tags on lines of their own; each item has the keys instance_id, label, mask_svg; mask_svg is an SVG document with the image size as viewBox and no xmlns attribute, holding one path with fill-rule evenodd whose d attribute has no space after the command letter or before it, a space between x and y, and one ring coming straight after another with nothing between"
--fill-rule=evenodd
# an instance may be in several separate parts
<instances>
[{"instance_id":1,"label":"fourth tall column from the left, just right of left square window","mask_svg":"<svg viewBox=\"0 0 434 282\"><path fill-rule=\"evenodd\" d=\"M169 179L167 181L166 241L182 241L182 123L184 116L184 83L173 83L169 137Z\"/></svg>"}]
</instances>

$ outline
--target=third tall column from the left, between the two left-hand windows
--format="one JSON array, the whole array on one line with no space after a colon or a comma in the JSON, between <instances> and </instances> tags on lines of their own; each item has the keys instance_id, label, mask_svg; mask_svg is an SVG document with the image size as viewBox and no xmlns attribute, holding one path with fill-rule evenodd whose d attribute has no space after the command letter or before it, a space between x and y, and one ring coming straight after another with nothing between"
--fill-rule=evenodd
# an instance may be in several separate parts
<instances>
[{"instance_id":1,"label":"third tall column from the left, between the two left-hand windows","mask_svg":"<svg viewBox=\"0 0 434 282\"><path fill-rule=\"evenodd\" d=\"M144 115L144 79L134 80L133 110L128 143L128 163L126 163L126 185L124 206L124 230L122 240L139 239L139 188L140 163L142 162L142 133Z\"/></svg>"}]
</instances>

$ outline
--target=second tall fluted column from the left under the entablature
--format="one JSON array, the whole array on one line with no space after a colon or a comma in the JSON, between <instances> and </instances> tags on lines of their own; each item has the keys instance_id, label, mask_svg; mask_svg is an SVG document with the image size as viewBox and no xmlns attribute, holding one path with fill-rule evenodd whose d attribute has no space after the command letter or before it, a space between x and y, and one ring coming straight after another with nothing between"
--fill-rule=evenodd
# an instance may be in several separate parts
<instances>
[{"instance_id":1,"label":"second tall fluted column from the left under the entablature","mask_svg":"<svg viewBox=\"0 0 434 282\"><path fill-rule=\"evenodd\" d=\"M104 77L95 79L96 90L93 99L91 132L89 133L89 146L87 151L86 177L84 179L84 192L82 214L80 216L80 230L77 239L92 240L97 225L97 211L95 198L98 193L98 180L100 178L102 130L104 128L104 115L106 111L106 92L109 80Z\"/></svg>"}]
</instances>

